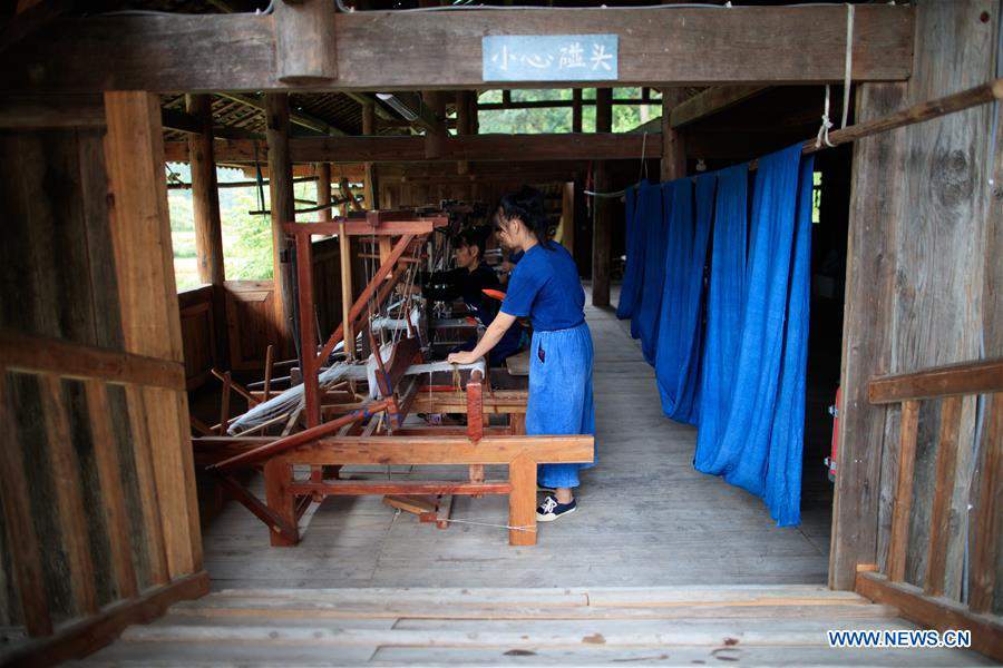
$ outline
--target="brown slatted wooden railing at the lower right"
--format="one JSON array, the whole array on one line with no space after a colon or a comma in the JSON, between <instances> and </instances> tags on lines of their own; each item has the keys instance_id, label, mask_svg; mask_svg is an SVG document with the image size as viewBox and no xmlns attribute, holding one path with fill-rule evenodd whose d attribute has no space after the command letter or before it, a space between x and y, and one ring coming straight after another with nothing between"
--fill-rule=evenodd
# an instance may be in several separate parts
<instances>
[{"instance_id":1,"label":"brown slatted wooden railing at the lower right","mask_svg":"<svg viewBox=\"0 0 1003 668\"><path fill-rule=\"evenodd\" d=\"M870 381L870 403L902 404L898 441L898 478L892 510L886 572L877 566L858 567L857 591L876 601L896 606L903 617L925 626L972 631L972 647L1003 660L1003 618L994 616L993 595L1000 542L1000 498L1003 495L1003 360L990 360L928 369L912 374ZM981 475L970 522L968 595L965 601L945 596L948 572L947 543L951 499L965 396L986 394L981 430ZM934 498L929 511L929 541L923 586L905 581L909 543L909 518L914 500L913 479L919 407L923 401L941 402Z\"/></svg>"}]
</instances>

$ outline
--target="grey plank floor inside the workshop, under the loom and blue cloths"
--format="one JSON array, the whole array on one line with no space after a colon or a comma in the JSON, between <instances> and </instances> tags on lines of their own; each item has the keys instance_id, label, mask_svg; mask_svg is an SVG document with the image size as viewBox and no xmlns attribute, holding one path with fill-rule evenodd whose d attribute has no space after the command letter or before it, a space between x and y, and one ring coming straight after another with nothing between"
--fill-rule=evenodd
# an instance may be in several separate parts
<instances>
[{"instance_id":1,"label":"grey plank floor inside the workshop, under the loom and blue cloths","mask_svg":"<svg viewBox=\"0 0 1003 668\"><path fill-rule=\"evenodd\" d=\"M508 547L504 498L458 498L447 530L398 515L378 497L331 498L303 518L295 548L270 548L265 527L231 503L205 531L213 588L824 583L828 498L806 488L801 527L778 529L759 499L698 473L695 430L663 416L652 369L626 324L594 308L587 318L598 464L584 474L578 512L541 525L536 547ZM808 465L827 488L820 461Z\"/></svg>"}]
</instances>

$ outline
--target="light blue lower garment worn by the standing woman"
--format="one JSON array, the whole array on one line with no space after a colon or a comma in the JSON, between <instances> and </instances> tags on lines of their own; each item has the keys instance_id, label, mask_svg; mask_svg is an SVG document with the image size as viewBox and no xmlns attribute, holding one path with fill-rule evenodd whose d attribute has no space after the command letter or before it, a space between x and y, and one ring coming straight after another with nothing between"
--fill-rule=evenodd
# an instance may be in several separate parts
<instances>
[{"instance_id":1,"label":"light blue lower garment worn by the standing woman","mask_svg":"<svg viewBox=\"0 0 1003 668\"><path fill-rule=\"evenodd\" d=\"M592 334L586 323L569 330L533 332L527 434L595 434L592 357ZM578 487L578 471L594 464L539 464L537 481L553 488Z\"/></svg>"}]
</instances>

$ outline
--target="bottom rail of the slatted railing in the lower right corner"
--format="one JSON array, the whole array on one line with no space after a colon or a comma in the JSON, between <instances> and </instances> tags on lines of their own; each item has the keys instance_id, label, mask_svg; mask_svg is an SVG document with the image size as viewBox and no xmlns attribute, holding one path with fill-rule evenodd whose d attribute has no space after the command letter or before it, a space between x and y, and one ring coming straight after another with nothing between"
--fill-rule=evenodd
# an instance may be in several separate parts
<instances>
[{"instance_id":1,"label":"bottom rail of the slatted railing in the lower right corner","mask_svg":"<svg viewBox=\"0 0 1003 668\"><path fill-rule=\"evenodd\" d=\"M856 591L876 603L894 606L898 613L941 632L948 629L972 631L972 649L1003 661L1003 622L999 617L977 615L957 601L932 598L906 582L893 582L882 573L857 573Z\"/></svg>"}]
</instances>

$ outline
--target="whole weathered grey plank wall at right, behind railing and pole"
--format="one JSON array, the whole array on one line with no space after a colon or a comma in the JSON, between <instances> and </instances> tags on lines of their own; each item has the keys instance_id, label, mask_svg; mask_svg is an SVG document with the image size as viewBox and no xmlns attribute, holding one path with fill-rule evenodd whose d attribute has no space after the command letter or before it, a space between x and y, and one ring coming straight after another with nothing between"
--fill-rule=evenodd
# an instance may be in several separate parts
<instances>
[{"instance_id":1,"label":"whole weathered grey plank wall at right, behind railing and pole","mask_svg":"<svg viewBox=\"0 0 1003 668\"><path fill-rule=\"evenodd\" d=\"M865 85L858 117L985 82L995 68L1000 0L918 3L913 77ZM1000 145L993 106L981 106L859 143L854 163L850 254L830 583L848 589L856 563L885 567L897 477L898 410L866 404L873 375L1003 354L999 250L1001 196L990 185ZM999 175L997 175L999 178ZM995 244L995 246L994 246ZM931 407L927 409L926 405ZM906 579L926 571L936 478L939 402L919 415ZM965 541L977 477L976 402L962 405L955 494L947 527L947 587L963 589ZM999 601L999 597L997 597ZM999 609L999 602L997 602Z\"/></svg>"}]
</instances>

